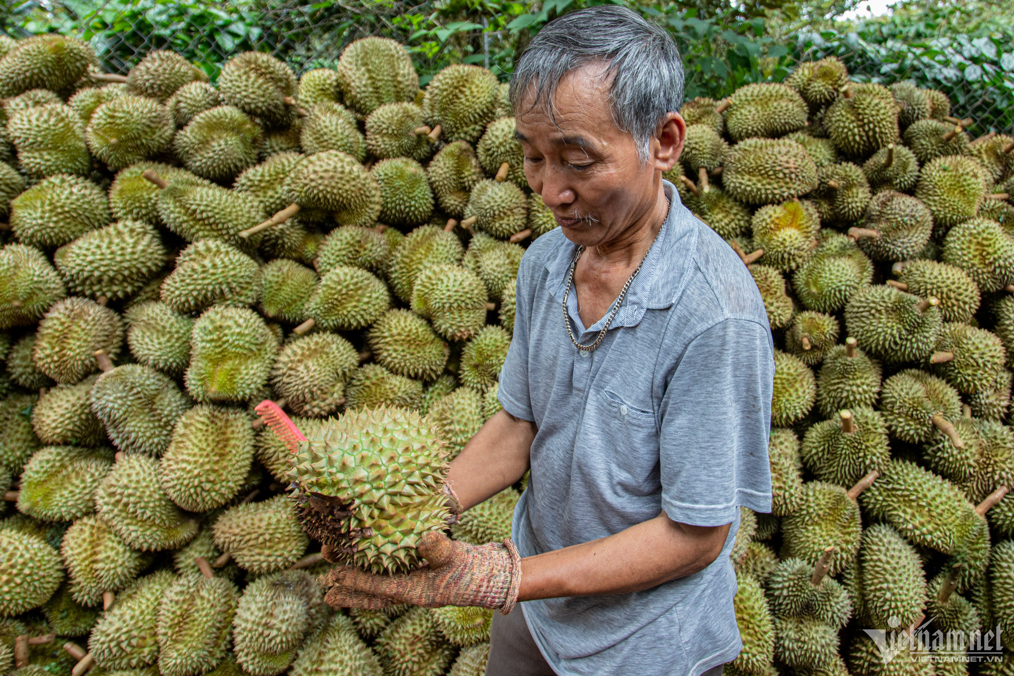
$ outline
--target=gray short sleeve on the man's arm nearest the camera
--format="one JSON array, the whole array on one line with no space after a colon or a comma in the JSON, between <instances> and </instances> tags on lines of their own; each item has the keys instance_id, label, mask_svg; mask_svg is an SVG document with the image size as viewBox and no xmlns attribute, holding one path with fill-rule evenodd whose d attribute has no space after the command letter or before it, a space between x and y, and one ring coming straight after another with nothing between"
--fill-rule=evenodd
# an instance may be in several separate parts
<instances>
[{"instance_id":1,"label":"gray short sleeve on the man's arm nearest the camera","mask_svg":"<svg viewBox=\"0 0 1014 676\"><path fill-rule=\"evenodd\" d=\"M687 345L660 407L662 509L693 526L771 512L768 437L775 376L771 332L722 321Z\"/></svg>"}]
</instances>

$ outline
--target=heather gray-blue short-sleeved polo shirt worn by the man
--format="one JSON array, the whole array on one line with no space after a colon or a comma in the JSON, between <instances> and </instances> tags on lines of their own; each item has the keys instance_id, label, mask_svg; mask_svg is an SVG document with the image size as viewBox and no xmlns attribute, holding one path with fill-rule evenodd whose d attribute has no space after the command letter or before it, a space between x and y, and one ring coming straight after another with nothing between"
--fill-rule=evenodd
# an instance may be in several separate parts
<instances>
[{"instance_id":1,"label":"heather gray-blue short-sleeved polo shirt worn by the man","mask_svg":"<svg viewBox=\"0 0 1014 676\"><path fill-rule=\"evenodd\" d=\"M524 617L559 674L697 676L739 653L729 561L739 506L771 511L768 432L774 348L749 271L679 201L596 350L564 328L575 245L538 238L517 276L514 339L500 373L507 412L538 427L514 512L522 556L619 533L664 510L732 524L722 553L633 594L527 601ZM575 336L591 343L571 290Z\"/></svg>"}]
</instances>

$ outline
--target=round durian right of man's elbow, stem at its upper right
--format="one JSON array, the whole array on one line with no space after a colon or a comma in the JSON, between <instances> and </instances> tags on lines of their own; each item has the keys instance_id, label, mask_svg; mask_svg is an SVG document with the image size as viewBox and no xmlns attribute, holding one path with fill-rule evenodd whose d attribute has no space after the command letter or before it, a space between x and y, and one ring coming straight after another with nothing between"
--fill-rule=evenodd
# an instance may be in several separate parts
<instances>
[{"instance_id":1,"label":"round durian right of man's elbow, stem at its upper right","mask_svg":"<svg viewBox=\"0 0 1014 676\"><path fill-rule=\"evenodd\" d=\"M845 488L823 481L803 485L803 499L795 513L782 520L782 557L796 557L815 565L827 545L835 545L829 574L852 565L859 551L862 522L859 505Z\"/></svg>"}]
</instances>

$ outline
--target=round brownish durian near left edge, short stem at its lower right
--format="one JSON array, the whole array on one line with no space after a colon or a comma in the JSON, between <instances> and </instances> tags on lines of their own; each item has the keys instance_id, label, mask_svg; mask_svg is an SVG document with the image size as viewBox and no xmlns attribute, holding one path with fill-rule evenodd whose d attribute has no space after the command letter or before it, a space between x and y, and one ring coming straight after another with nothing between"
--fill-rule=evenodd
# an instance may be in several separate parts
<instances>
[{"instance_id":1,"label":"round brownish durian near left edge, short stem at its lower right","mask_svg":"<svg viewBox=\"0 0 1014 676\"><path fill-rule=\"evenodd\" d=\"M55 302L39 323L31 358L57 383L73 384L97 369L96 350L115 359L123 340L123 321L115 312L71 296Z\"/></svg>"}]
</instances>

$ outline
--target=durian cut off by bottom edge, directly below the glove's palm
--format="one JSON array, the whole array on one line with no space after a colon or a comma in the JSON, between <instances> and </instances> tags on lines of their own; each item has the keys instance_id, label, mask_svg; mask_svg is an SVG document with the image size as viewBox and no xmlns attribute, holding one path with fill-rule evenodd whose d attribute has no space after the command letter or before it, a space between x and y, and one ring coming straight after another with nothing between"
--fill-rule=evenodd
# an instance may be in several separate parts
<instances>
[{"instance_id":1,"label":"durian cut off by bottom edge, directly below the glove's palm","mask_svg":"<svg viewBox=\"0 0 1014 676\"><path fill-rule=\"evenodd\" d=\"M391 622L377 637L375 650L390 676L438 676L454 655L428 608L413 608Z\"/></svg>"}]
</instances>

